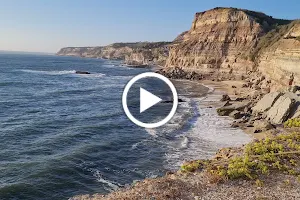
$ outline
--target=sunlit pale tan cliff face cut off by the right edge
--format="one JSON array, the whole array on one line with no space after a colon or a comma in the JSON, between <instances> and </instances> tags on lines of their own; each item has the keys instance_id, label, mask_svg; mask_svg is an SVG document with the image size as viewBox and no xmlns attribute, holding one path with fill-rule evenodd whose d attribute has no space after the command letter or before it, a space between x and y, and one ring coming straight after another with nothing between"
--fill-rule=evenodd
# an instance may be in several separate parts
<instances>
[{"instance_id":1,"label":"sunlit pale tan cliff face cut off by the right edge","mask_svg":"<svg viewBox=\"0 0 300 200\"><path fill-rule=\"evenodd\" d=\"M295 84L300 84L300 21L294 21L277 31L278 39L264 49L258 57L258 70L274 80L274 84L287 86L292 73Z\"/></svg>"}]
</instances>

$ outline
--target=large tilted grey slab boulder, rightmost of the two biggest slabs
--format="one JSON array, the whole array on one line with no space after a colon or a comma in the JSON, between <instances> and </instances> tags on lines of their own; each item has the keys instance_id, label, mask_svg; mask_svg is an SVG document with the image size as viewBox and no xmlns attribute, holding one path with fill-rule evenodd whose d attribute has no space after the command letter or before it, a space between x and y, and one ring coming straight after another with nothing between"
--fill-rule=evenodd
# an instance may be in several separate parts
<instances>
[{"instance_id":1,"label":"large tilted grey slab boulder, rightmost of the two biggest slabs","mask_svg":"<svg viewBox=\"0 0 300 200\"><path fill-rule=\"evenodd\" d=\"M288 119L295 106L295 98L290 94L280 96L267 112L267 119L274 124L281 124Z\"/></svg>"}]
</instances>

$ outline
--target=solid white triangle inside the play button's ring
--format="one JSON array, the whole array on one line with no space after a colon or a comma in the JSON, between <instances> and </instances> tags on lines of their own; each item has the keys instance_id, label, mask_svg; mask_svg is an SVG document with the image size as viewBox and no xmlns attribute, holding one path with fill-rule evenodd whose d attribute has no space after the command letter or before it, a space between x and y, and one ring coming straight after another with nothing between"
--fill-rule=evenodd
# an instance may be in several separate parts
<instances>
[{"instance_id":1,"label":"solid white triangle inside the play button's ring","mask_svg":"<svg viewBox=\"0 0 300 200\"><path fill-rule=\"evenodd\" d=\"M161 98L143 88L140 88L140 113L144 112L148 108L151 108L160 101L162 101Z\"/></svg>"}]
</instances>

